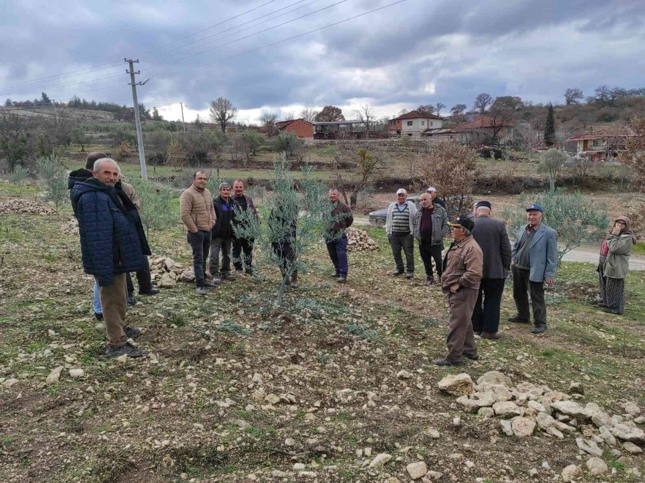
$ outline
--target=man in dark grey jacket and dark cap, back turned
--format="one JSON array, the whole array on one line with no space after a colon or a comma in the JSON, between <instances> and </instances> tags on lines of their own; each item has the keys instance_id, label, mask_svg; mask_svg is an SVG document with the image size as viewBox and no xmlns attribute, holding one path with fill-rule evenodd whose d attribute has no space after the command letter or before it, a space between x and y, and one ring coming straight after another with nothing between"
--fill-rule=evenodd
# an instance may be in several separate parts
<instances>
[{"instance_id":1,"label":"man in dark grey jacket and dark cap, back turned","mask_svg":"<svg viewBox=\"0 0 645 483\"><path fill-rule=\"evenodd\" d=\"M484 254L479 296L473 310L473 331L483 339L499 339L499 307L510 271L511 243L503 221L491 218L489 201L475 204L473 238Z\"/></svg>"}]
</instances>

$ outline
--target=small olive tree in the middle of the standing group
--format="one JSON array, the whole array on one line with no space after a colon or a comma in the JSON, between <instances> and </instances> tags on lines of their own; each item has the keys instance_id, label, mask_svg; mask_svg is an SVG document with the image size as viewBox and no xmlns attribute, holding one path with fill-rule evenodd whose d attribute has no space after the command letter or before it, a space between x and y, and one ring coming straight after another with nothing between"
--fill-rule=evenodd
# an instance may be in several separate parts
<instances>
[{"instance_id":1,"label":"small olive tree in the middle of the standing group","mask_svg":"<svg viewBox=\"0 0 645 483\"><path fill-rule=\"evenodd\" d=\"M258 220L252 211L235 210L234 225L237 238L255 239L259 247L259 263L268 263L281 267L283 277L277 292L277 305L282 305L284 290L294 272L306 272L308 262L303 255L315 243L330 234L328 227L339 217L332 216L327 188L313 178L314 168L305 165L299 189L296 189L290 165L286 156L275 163L271 189L273 196L266 201L267 219L264 223ZM293 260L283 260L281 252L293 251Z\"/></svg>"}]
</instances>

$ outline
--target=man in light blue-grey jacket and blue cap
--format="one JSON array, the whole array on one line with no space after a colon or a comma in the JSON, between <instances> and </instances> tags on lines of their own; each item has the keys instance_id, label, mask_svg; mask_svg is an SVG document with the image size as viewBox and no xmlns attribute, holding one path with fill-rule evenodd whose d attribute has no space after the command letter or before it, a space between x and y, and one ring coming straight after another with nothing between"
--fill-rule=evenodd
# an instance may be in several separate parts
<instances>
[{"instance_id":1,"label":"man in light blue-grey jacket and blue cap","mask_svg":"<svg viewBox=\"0 0 645 483\"><path fill-rule=\"evenodd\" d=\"M542 207L530 205L526 208L528 223L521 227L511 251L513 266L513 298L517 315L509 322L530 324L528 293L533 305L533 334L546 332L546 303L544 303L544 282L553 285L557 267L557 232L542 223Z\"/></svg>"}]
</instances>

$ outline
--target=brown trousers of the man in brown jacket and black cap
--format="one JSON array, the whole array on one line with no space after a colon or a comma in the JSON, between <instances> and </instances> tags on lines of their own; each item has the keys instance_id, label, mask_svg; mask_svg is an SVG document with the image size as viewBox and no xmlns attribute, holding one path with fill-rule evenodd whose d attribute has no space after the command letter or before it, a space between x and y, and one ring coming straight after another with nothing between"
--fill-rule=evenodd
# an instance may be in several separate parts
<instances>
[{"instance_id":1,"label":"brown trousers of the man in brown jacket and black cap","mask_svg":"<svg viewBox=\"0 0 645 483\"><path fill-rule=\"evenodd\" d=\"M473 307L477 300L475 289L462 288L459 292L448 294L448 355L446 360L450 362L461 362L464 353L476 356L477 346L475 345L475 334L470 318L473 314Z\"/></svg>"}]
</instances>

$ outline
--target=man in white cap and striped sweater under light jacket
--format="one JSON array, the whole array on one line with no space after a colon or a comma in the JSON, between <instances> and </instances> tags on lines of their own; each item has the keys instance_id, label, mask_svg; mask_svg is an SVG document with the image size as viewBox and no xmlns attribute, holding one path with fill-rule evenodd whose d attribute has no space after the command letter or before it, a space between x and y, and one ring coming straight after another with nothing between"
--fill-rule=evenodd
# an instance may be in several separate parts
<instances>
[{"instance_id":1,"label":"man in white cap and striped sweater under light jacket","mask_svg":"<svg viewBox=\"0 0 645 483\"><path fill-rule=\"evenodd\" d=\"M406 278L414 276L414 243L412 238L413 218L417 212L414 203L408 202L408 192L403 188L397 190L397 201L390 204L385 219L385 232L392 247L392 255L397 265L393 275L406 274ZM406 269L404 270L401 249L405 252Z\"/></svg>"}]
</instances>

